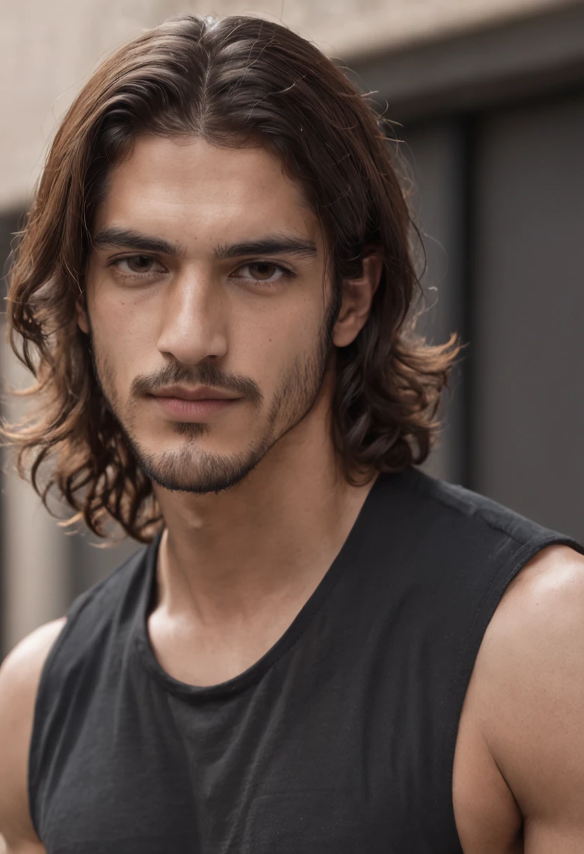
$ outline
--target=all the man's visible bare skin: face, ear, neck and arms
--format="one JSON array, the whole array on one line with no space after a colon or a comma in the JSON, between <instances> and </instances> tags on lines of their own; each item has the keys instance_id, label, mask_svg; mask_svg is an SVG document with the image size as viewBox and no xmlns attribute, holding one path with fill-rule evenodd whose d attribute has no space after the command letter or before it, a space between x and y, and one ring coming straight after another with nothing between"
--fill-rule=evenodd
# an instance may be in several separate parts
<instances>
[{"instance_id":1,"label":"all the man's visible bare skin: face, ear, neck and arms","mask_svg":"<svg viewBox=\"0 0 584 854\"><path fill-rule=\"evenodd\" d=\"M176 248L102 241L79 326L91 334L102 388L155 481L166 522L152 645L172 676L209 685L245 670L282 635L371 488L345 482L330 440L325 245L276 158L200 139L137 141L111 175L94 236L109 230L111 241L112 229ZM305 250L227 257L225 247L274 236ZM362 277L343 283L335 348L365 324L380 272L371 254ZM168 383L205 383L238 400L204 416L169 414L151 396ZM569 549L541 553L488 627L454 764L465 854L584 848L583 566ZM61 624L39 629L0 670L0 756L9 769L0 776L0 828L12 854L43 851L28 816L26 754L38 676Z\"/></svg>"}]
</instances>

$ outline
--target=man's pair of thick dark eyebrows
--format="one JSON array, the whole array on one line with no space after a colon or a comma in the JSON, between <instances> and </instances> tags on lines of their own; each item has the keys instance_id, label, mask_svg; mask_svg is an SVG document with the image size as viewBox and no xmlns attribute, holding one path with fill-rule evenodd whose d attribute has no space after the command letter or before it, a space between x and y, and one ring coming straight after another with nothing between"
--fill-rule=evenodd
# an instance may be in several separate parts
<instances>
[{"instance_id":1,"label":"man's pair of thick dark eyebrows","mask_svg":"<svg viewBox=\"0 0 584 854\"><path fill-rule=\"evenodd\" d=\"M169 243L162 237L142 234L139 231L108 225L91 240L91 249L138 249L143 252L160 252L184 257L184 248L179 243ZM213 252L214 260L240 258L242 255L289 254L314 258L318 254L316 243L304 237L289 234L274 234L260 240L242 243L221 243Z\"/></svg>"}]
</instances>

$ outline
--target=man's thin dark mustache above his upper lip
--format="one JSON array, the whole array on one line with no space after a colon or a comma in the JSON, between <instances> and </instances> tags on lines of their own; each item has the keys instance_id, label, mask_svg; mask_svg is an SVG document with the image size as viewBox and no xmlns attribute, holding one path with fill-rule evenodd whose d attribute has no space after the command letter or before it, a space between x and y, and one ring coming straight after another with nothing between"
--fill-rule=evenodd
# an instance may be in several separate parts
<instances>
[{"instance_id":1,"label":"man's thin dark mustache above his upper lip","mask_svg":"<svg viewBox=\"0 0 584 854\"><path fill-rule=\"evenodd\" d=\"M260 386L248 377L236 377L234 374L222 371L211 362L201 362L200 365L188 367L174 363L166 365L154 374L134 377L130 387L131 397L151 395L157 389L166 385L208 385L213 389L228 391L238 397L258 405L263 399Z\"/></svg>"}]
</instances>

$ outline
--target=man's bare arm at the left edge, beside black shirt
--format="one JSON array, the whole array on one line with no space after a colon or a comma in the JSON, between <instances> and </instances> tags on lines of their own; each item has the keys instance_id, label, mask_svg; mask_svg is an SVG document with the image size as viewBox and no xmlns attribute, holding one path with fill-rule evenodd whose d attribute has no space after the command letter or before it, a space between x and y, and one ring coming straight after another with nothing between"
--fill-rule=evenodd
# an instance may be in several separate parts
<instances>
[{"instance_id":1,"label":"man's bare arm at the left edge, beside black shirt","mask_svg":"<svg viewBox=\"0 0 584 854\"><path fill-rule=\"evenodd\" d=\"M65 623L41 626L0 667L0 852L44 854L28 808L28 750L38 681L50 647Z\"/></svg>"}]
</instances>

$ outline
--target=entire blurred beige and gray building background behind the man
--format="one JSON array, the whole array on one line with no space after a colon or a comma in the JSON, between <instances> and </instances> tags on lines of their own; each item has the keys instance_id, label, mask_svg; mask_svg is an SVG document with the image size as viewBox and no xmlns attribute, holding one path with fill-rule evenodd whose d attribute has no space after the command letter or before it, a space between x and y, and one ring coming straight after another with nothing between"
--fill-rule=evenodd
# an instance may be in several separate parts
<instances>
[{"instance_id":1,"label":"entire blurred beige and gray building background behind the man","mask_svg":"<svg viewBox=\"0 0 584 854\"><path fill-rule=\"evenodd\" d=\"M584 3L3 0L2 260L80 85L179 11L282 20L387 105L425 235L424 330L469 342L429 470L584 541ZM3 388L26 385L0 333ZM1 656L136 545L64 535L6 452L0 477Z\"/></svg>"}]
</instances>

